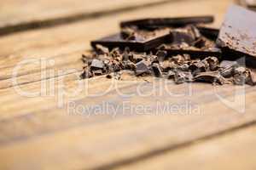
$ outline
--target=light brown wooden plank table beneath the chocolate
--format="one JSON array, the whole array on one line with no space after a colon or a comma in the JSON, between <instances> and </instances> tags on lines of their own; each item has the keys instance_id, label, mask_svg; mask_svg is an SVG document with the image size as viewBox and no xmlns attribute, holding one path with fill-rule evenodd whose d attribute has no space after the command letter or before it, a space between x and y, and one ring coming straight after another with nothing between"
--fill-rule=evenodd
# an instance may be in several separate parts
<instances>
[{"instance_id":1,"label":"light brown wooden plank table beneath the chocolate","mask_svg":"<svg viewBox=\"0 0 256 170\"><path fill-rule=\"evenodd\" d=\"M230 3L2 1L0 169L255 169L256 88L79 78L90 40L120 20L213 14L219 27ZM127 103L150 108L101 110Z\"/></svg>"}]
</instances>

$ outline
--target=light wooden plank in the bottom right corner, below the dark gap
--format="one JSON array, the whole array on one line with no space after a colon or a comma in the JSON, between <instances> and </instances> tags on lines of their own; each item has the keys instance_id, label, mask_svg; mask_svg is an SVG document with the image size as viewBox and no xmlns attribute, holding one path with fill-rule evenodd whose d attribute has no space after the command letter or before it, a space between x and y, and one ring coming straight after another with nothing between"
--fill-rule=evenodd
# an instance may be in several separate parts
<instances>
[{"instance_id":1,"label":"light wooden plank in the bottom right corner, below the dark gap","mask_svg":"<svg viewBox=\"0 0 256 170\"><path fill-rule=\"evenodd\" d=\"M255 169L256 126L117 169Z\"/></svg>"}]
</instances>

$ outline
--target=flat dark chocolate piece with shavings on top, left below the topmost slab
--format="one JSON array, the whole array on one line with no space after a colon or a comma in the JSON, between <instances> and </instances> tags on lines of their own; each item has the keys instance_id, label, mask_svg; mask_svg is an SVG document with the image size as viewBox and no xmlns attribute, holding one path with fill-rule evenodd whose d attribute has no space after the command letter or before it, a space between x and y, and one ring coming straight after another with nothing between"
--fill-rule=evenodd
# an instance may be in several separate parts
<instances>
[{"instance_id":1,"label":"flat dark chocolate piece with shavings on top, left below the topmost slab","mask_svg":"<svg viewBox=\"0 0 256 170\"><path fill-rule=\"evenodd\" d=\"M135 51L145 52L160 46L160 44L163 42L166 42L167 37L169 37L168 29L157 31L140 31L137 32L136 40L126 40L121 36L121 34L115 34L113 36L92 41L90 44L93 48L96 48L97 44L101 44L108 48L129 47Z\"/></svg>"}]
</instances>

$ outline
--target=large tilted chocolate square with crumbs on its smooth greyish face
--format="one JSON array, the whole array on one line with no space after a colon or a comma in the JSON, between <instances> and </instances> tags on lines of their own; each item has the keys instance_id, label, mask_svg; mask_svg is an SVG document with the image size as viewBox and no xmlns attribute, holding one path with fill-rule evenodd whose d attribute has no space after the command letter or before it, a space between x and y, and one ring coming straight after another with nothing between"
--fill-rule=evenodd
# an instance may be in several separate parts
<instances>
[{"instance_id":1,"label":"large tilted chocolate square with crumbs on its smooth greyish face","mask_svg":"<svg viewBox=\"0 0 256 170\"><path fill-rule=\"evenodd\" d=\"M256 57L256 13L232 5L218 35L218 46Z\"/></svg>"}]
</instances>

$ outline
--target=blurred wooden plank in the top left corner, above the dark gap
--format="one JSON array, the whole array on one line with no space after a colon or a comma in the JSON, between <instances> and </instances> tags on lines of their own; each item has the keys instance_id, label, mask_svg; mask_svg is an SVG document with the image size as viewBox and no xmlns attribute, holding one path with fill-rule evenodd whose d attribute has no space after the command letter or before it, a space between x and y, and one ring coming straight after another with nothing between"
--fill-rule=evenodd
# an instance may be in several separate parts
<instances>
[{"instance_id":1,"label":"blurred wooden plank in the top left corner, above the dark gap","mask_svg":"<svg viewBox=\"0 0 256 170\"><path fill-rule=\"evenodd\" d=\"M61 25L168 1L170 0L2 1L0 3L0 35L38 27Z\"/></svg>"}]
</instances>

